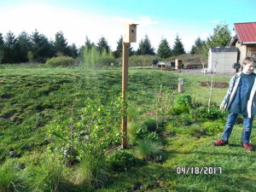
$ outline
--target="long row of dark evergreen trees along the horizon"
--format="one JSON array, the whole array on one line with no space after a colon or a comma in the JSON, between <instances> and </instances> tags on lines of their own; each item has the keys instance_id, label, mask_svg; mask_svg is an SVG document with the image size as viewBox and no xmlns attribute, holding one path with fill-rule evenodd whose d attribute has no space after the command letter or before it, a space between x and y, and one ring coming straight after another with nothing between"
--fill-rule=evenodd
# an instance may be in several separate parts
<instances>
[{"instance_id":1,"label":"long row of dark evergreen trees along the horizon","mask_svg":"<svg viewBox=\"0 0 256 192\"><path fill-rule=\"evenodd\" d=\"M225 46L230 42L230 31L227 25L217 25L213 34L202 40L197 38L190 51L191 54L204 54L211 46ZM44 34L37 30L31 35L21 32L17 37L13 32L8 32L5 37L0 33L0 63L21 63L21 62L45 62L47 59L67 55L73 58L80 58L84 61L84 49L88 51L94 48L100 55L111 55L119 58L122 55L123 38L117 41L115 50L111 50L106 38L99 38L97 44L90 41L88 37L85 44L78 48L75 44L67 44L63 32L56 32L55 39L49 40ZM87 52L88 52L87 51ZM106 52L105 52L106 51ZM139 42L137 50L130 48L130 55L158 55L160 58L185 54L182 39L175 38L171 47L166 38L160 40L158 49L155 51L151 45L148 35Z\"/></svg>"}]
</instances>

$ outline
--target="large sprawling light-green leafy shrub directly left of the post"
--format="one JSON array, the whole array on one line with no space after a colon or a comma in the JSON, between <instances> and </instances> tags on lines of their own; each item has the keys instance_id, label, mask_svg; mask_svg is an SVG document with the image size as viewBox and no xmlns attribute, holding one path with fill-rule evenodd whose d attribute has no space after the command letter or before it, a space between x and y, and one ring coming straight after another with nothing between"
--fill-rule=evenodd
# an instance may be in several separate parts
<instances>
[{"instance_id":1,"label":"large sprawling light-green leafy shrub directly left of the post","mask_svg":"<svg viewBox=\"0 0 256 192\"><path fill-rule=\"evenodd\" d=\"M84 105L78 119L57 119L48 125L48 133L55 139L49 149L53 154L61 154L67 164L80 161L84 154L102 155L109 146L121 141L120 98L105 106L100 98L88 99Z\"/></svg>"}]
</instances>

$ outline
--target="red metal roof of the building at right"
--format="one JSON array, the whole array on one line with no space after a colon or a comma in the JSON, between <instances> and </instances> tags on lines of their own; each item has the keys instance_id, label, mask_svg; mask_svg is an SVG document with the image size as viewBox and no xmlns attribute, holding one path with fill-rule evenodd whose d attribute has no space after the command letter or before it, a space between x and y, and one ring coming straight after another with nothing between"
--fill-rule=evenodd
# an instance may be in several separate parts
<instances>
[{"instance_id":1,"label":"red metal roof of the building at right","mask_svg":"<svg viewBox=\"0 0 256 192\"><path fill-rule=\"evenodd\" d=\"M256 44L256 22L235 23L234 26L241 44Z\"/></svg>"}]
</instances>

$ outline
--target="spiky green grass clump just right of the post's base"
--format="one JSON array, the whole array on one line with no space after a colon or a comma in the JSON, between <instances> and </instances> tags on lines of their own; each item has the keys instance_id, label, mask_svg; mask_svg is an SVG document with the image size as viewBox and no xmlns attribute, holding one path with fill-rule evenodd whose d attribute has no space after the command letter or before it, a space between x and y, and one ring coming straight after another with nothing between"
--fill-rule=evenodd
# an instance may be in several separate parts
<instances>
[{"instance_id":1,"label":"spiky green grass clump just right of the post's base","mask_svg":"<svg viewBox=\"0 0 256 192\"><path fill-rule=\"evenodd\" d=\"M151 141L141 141L137 144L136 153L143 160L158 160L162 156L159 143Z\"/></svg>"}]
</instances>

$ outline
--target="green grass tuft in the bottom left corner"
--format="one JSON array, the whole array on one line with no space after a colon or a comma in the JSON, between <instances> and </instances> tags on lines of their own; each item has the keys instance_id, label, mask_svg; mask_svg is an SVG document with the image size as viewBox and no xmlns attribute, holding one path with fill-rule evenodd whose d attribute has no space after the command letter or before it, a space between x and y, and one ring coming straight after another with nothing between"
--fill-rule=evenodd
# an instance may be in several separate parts
<instances>
[{"instance_id":1,"label":"green grass tuft in the bottom left corner","mask_svg":"<svg viewBox=\"0 0 256 192\"><path fill-rule=\"evenodd\" d=\"M0 167L0 191L27 191L26 180L20 177L20 173L13 162L7 161Z\"/></svg>"}]
</instances>

